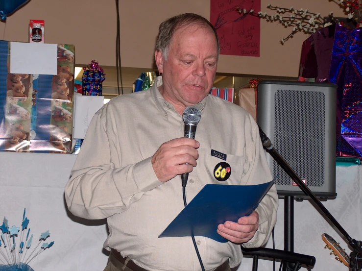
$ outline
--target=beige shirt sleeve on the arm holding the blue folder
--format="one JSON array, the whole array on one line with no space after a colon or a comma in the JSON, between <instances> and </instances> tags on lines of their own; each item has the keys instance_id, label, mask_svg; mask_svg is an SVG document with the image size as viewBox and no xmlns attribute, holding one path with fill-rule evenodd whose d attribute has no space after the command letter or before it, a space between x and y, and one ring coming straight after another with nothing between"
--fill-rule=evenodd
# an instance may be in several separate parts
<instances>
[{"instance_id":1,"label":"beige shirt sleeve on the arm holding the blue folder","mask_svg":"<svg viewBox=\"0 0 362 271\"><path fill-rule=\"evenodd\" d=\"M272 180L257 125L253 126L252 142L246 152L242 178L246 178L246 183L250 185ZM260 247L266 244L276 223L278 204L278 194L273 184L256 208L259 214L259 228L253 238L242 244L244 247Z\"/></svg>"}]
</instances>

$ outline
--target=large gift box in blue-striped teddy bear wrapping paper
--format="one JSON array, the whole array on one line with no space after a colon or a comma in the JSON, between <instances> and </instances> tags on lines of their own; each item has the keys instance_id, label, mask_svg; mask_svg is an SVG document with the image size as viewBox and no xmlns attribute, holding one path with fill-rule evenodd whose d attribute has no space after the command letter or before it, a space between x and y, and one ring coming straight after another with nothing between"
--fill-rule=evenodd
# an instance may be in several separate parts
<instances>
[{"instance_id":1,"label":"large gift box in blue-striped teddy bear wrapping paper","mask_svg":"<svg viewBox=\"0 0 362 271\"><path fill-rule=\"evenodd\" d=\"M0 41L0 150L72 149L74 46L57 45L57 74L11 74L11 43Z\"/></svg>"}]
</instances>

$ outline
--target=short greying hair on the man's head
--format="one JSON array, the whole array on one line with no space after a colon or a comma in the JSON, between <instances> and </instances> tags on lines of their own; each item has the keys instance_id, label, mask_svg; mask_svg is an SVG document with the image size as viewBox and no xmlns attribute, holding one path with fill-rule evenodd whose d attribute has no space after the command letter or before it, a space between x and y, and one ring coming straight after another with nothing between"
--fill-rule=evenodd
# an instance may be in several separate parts
<instances>
[{"instance_id":1,"label":"short greying hair on the man's head","mask_svg":"<svg viewBox=\"0 0 362 271\"><path fill-rule=\"evenodd\" d=\"M161 23L158 29L158 36L156 42L156 50L161 51L164 58L167 59L169 55L169 45L171 43L171 39L173 34L182 26L186 25L203 25L209 26L215 34L216 42L217 42L217 56L220 52L220 47L218 43L218 36L214 25L212 25L208 20L204 17L194 14L194 13L184 13Z\"/></svg>"}]
</instances>

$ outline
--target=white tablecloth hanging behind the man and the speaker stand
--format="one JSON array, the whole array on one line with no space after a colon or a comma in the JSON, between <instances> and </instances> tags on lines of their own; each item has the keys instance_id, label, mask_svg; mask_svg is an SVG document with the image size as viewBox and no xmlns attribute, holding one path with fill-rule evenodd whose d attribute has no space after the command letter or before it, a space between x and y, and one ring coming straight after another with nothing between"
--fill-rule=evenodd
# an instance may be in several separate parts
<instances>
[{"instance_id":1,"label":"white tablecloth hanging behind the man and the speaker stand","mask_svg":"<svg viewBox=\"0 0 362 271\"><path fill-rule=\"evenodd\" d=\"M107 263L103 249L107 237L105 221L78 219L65 207L64 186L75 158L72 154L0 152L0 224L5 216L10 227L19 227L26 208L30 232L34 234L32 246L46 230L50 237L45 242L55 242L30 263L35 271L102 271ZM358 240L362 239L361 179L360 166L338 166L338 197L324 202L351 237ZM329 255L329 250L323 249L323 232L334 237L349 253L347 244L309 201L294 202L294 251L315 256L315 271L347 271ZM276 248L284 248L283 238L284 200L280 200ZM270 239L267 247L271 244ZM251 262L245 258L239 271L251 271ZM259 271L269 270L272 262L260 260Z\"/></svg>"}]
</instances>

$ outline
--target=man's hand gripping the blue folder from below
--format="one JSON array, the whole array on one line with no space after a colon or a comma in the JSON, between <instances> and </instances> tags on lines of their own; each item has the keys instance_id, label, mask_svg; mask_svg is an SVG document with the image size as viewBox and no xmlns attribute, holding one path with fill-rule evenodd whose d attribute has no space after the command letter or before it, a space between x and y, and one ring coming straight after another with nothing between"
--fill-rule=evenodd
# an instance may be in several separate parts
<instances>
[{"instance_id":1,"label":"man's hand gripping the blue folder from below","mask_svg":"<svg viewBox=\"0 0 362 271\"><path fill-rule=\"evenodd\" d=\"M241 217L238 222L227 221L217 226L217 233L227 240L241 244L248 242L259 228L259 214L254 211L250 216Z\"/></svg>"}]
</instances>

